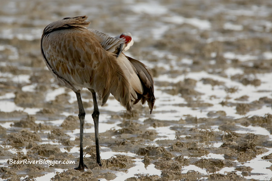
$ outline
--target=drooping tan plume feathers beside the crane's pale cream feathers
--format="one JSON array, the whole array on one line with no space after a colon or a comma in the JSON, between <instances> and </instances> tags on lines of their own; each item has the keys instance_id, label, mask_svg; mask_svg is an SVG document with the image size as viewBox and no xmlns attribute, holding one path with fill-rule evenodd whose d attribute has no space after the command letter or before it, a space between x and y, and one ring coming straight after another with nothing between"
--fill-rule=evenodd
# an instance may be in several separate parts
<instances>
[{"instance_id":1,"label":"drooping tan plume feathers beside the crane's pale cream feathers","mask_svg":"<svg viewBox=\"0 0 272 181\"><path fill-rule=\"evenodd\" d=\"M106 52L106 51L105 51ZM113 53L105 55L99 63L94 82L99 99L102 99L102 106L105 105L110 93L131 112L131 94L128 79L117 63Z\"/></svg>"}]
</instances>

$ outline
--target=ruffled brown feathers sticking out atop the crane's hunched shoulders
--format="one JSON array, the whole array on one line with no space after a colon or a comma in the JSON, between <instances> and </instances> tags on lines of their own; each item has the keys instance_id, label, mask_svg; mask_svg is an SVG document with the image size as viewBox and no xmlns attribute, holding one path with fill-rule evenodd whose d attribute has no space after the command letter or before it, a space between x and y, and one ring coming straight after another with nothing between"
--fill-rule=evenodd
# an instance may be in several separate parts
<instances>
[{"instance_id":1,"label":"ruffled brown feathers sticking out atop the crane's hunched shoulders","mask_svg":"<svg viewBox=\"0 0 272 181\"><path fill-rule=\"evenodd\" d=\"M44 28L43 34L48 34L52 31L65 29L69 27L88 27L90 22L86 21L88 16L77 16L74 18L63 18L62 20L55 21Z\"/></svg>"}]
</instances>

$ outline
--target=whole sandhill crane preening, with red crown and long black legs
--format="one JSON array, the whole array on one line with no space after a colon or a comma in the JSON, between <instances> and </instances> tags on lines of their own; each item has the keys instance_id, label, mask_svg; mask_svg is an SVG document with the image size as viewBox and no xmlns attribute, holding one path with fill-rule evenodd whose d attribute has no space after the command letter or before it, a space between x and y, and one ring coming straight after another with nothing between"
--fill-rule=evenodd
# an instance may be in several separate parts
<instances>
[{"instance_id":1,"label":"whole sandhill crane preening, with red crown and long black legs","mask_svg":"<svg viewBox=\"0 0 272 181\"><path fill-rule=\"evenodd\" d=\"M99 154L98 122L99 109L96 93L102 106L110 93L131 112L131 103L147 101L150 114L153 110L154 81L147 67L131 57L125 56L133 43L127 32L119 37L87 29L87 16L63 18L45 27L41 37L41 53L52 75L63 85L76 93L80 120L80 156L79 166L84 169L83 162L83 126L85 111L80 91L87 88L92 92L95 128L96 161L102 166ZM128 46L129 45L129 46ZM117 53L118 55L116 55ZM118 57L119 56L119 57ZM118 58L116 58L118 57Z\"/></svg>"}]
</instances>

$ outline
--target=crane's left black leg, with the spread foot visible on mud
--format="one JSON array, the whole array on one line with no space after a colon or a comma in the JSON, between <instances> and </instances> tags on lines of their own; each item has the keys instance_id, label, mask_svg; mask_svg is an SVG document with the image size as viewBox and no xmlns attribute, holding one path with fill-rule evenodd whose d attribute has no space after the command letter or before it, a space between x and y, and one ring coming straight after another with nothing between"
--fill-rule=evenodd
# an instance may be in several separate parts
<instances>
[{"instance_id":1,"label":"crane's left black leg, with the spread foot visible on mud","mask_svg":"<svg viewBox=\"0 0 272 181\"><path fill-rule=\"evenodd\" d=\"M85 111L84 111L84 108L83 108L80 93L78 93L78 92L75 92L75 93L76 93L76 99L77 99L78 109L79 109L78 118L79 118L79 121L80 121L79 165L75 169L76 170L84 170L84 167L88 168L83 162L83 127L84 127Z\"/></svg>"}]
</instances>

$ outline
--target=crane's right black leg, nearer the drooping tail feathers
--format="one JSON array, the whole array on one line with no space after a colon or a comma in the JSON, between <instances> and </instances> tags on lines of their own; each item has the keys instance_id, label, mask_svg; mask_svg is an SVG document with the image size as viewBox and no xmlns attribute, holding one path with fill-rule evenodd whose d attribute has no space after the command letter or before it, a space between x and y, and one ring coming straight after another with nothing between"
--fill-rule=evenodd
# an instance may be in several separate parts
<instances>
[{"instance_id":1,"label":"crane's right black leg, nearer the drooping tail feathers","mask_svg":"<svg viewBox=\"0 0 272 181\"><path fill-rule=\"evenodd\" d=\"M99 122L99 109L96 101L96 92L93 89L89 89L92 92L92 100L93 100L93 113L92 118L95 127L95 137L96 137L96 163L99 166L102 166L100 160L100 152L99 152L99 140L98 140L98 122Z\"/></svg>"}]
</instances>

